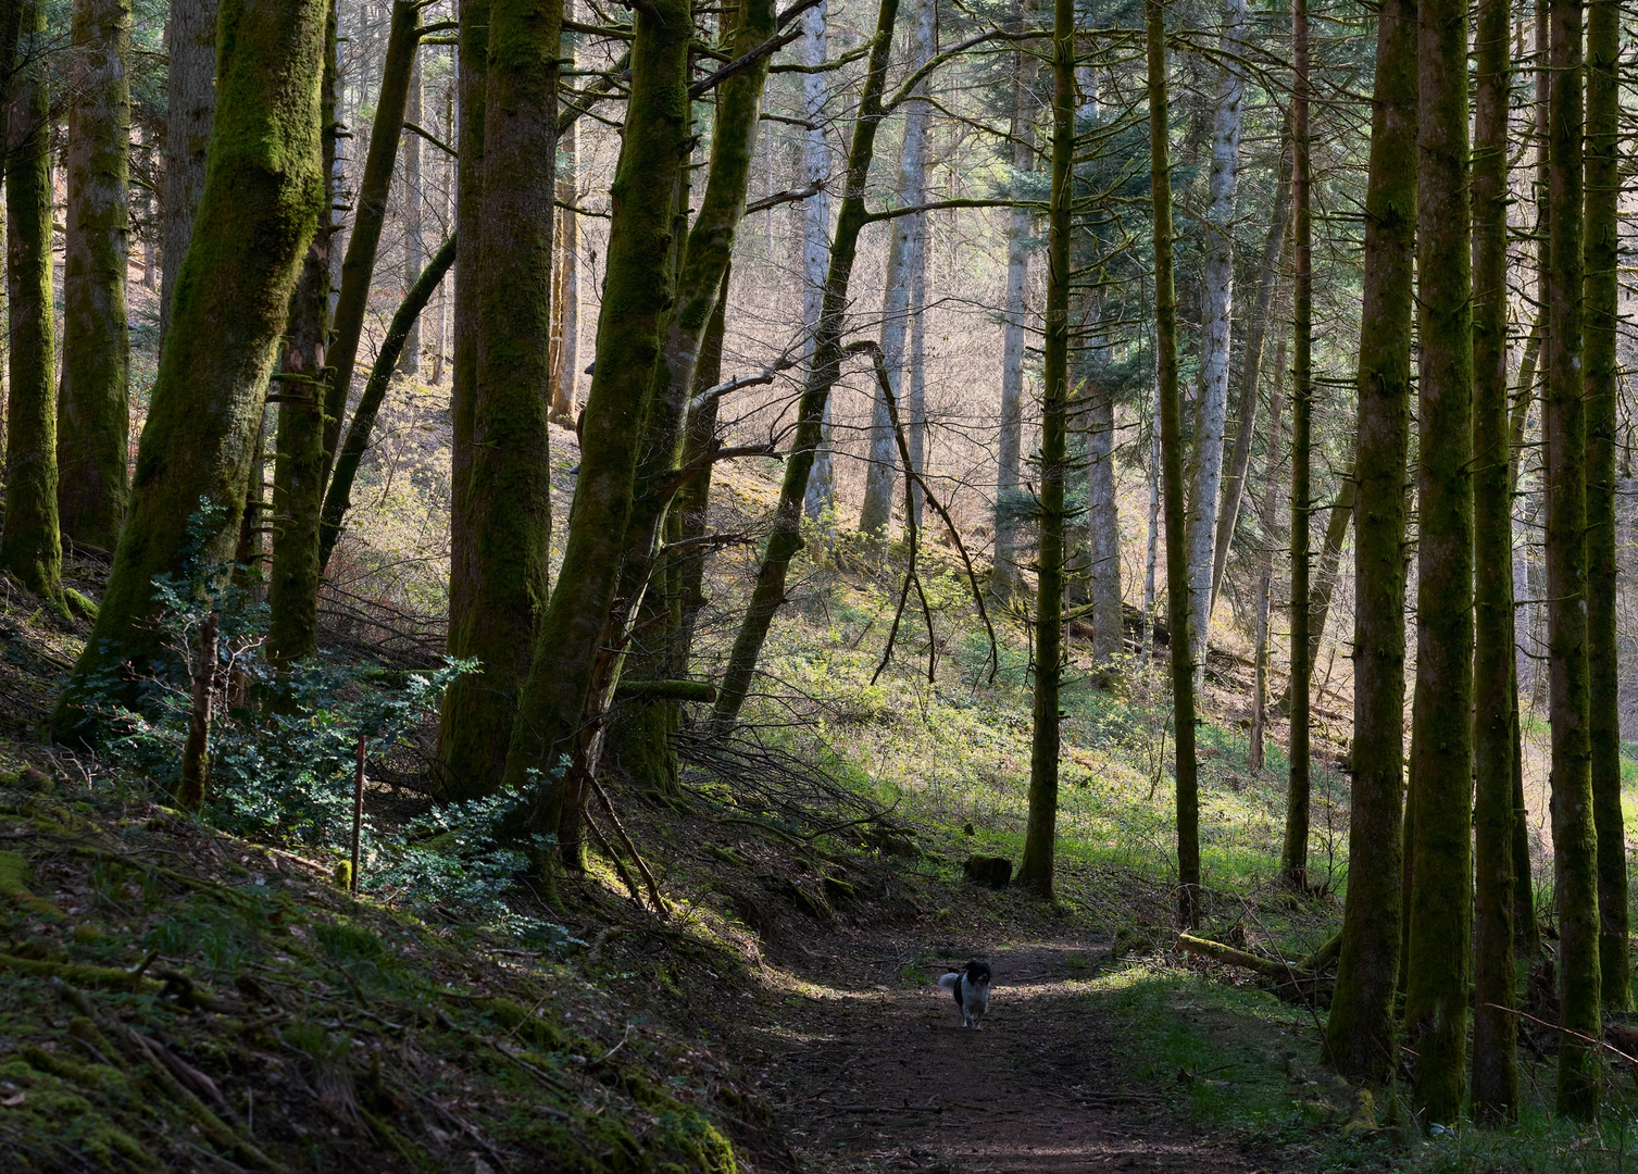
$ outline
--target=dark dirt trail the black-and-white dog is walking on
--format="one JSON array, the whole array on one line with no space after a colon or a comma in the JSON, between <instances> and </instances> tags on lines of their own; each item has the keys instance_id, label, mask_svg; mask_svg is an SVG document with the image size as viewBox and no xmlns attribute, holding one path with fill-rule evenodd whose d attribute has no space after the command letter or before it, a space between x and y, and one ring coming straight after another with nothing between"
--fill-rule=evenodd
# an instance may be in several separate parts
<instances>
[{"instance_id":1,"label":"dark dirt trail the black-and-white dog is walking on","mask_svg":"<svg viewBox=\"0 0 1638 1174\"><path fill-rule=\"evenodd\" d=\"M935 986L901 966L917 945L878 935L830 938L798 966L778 1025L750 1032L758 1071L783 1102L793 1145L812 1171L1191 1171L1268 1169L1247 1146L1210 1138L1163 1090L1124 1087L1122 1025L1086 979L1102 941L975 950L994 971L983 1030L963 1030Z\"/></svg>"}]
</instances>

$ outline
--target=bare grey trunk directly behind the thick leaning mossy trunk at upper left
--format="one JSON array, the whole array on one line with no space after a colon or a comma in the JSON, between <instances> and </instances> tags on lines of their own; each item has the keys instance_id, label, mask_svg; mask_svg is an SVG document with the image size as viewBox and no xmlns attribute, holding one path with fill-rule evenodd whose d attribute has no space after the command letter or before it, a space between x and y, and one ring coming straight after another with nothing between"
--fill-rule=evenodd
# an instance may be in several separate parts
<instances>
[{"instance_id":1,"label":"bare grey trunk directly behind the thick leaning mossy trunk at upper left","mask_svg":"<svg viewBox=\"0 0 1638 1174\"><path fill-rule=\"evenodd\" d=\"M172 303L193 218L205 193L205 151L216 110L216 15L221 0L174 0L165 54L165 195L159 275L159 347L170 332Z\"/></svg>"}]
</instances>

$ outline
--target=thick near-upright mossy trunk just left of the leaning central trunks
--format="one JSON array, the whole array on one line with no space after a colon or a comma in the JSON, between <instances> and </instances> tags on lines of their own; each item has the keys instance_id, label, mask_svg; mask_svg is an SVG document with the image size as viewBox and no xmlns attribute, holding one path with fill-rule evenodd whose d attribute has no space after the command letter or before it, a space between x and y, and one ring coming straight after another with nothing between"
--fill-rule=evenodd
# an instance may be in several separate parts
<instances>
[{"instance_id":1,"label":"thick near-upright mossy trunk just left of the leaning central trunks","mask_svg":"<svg viewBox=\"0 0 1638 1174\"><path fill-rule=\"evenodd\" d=\"M562 0L493 0L483 115L483 216L468 598L450 637L482 668L450 684L439 722L444 794L493 792L550 573L552 229ZM390 170L390 167L388 167Z\"/></svg>"}]
</instances>

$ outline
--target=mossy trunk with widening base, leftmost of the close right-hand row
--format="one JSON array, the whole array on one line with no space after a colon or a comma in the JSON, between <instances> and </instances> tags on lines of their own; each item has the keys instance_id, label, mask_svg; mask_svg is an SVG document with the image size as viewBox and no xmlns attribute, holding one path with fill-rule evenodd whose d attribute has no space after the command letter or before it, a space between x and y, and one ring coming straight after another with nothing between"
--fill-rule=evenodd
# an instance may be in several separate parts
<instances>
[{"instance_id":1,"label":"mossy trunk with widening base, leftmost of the close right-hand row","mask_svg":"<svg viewBox=\"0 0 1638 1174\"><path fill-rule=\"evenodd\" d=\"M1417 5L1378 10L1371 157L1364 196L1364 305L1355 440L1353 802L1337 987L1325 1025L1332 1066L1381 1086L1397 1066L1404 861L1405 462L1417 231Z\"/></svg>"}]
</instances>

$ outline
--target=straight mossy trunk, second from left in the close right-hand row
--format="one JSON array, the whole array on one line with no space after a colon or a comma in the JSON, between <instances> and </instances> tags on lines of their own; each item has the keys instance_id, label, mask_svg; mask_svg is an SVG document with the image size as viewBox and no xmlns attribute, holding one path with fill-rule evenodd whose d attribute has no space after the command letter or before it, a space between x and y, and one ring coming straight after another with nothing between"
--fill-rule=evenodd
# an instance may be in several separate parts
<instances>
[{"instance_id":1,"label":"straight mossy trunk, second from left in the close right-hand row","mask_svg":"<svg viewBox=\"0 0 1638 1174\"><path fill-rule=\"evenodd\" d=\"M1468 1079L1473 923L1473 244L1468 7L1422 0L1417 116L1415 887L1405 1035L1423 1127L1456 1125ZM1351 869L1350 869L1351 874Z\"/></svg>"}]
</instances>

